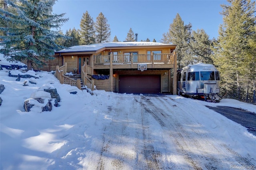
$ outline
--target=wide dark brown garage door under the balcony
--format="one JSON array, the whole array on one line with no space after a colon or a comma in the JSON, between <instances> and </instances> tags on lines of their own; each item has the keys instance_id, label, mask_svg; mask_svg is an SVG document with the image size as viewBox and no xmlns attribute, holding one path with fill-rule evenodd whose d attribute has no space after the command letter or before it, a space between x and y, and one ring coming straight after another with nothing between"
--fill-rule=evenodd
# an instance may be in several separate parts
<instances>
[{"instance_id":1,"label":"wide dark brown garage door under the balcony","mask_svg":"<svg viewBox=\"0 0 256 170\"><path fill-rule=\"evenodd\" d=\"M160 75L119 75L119 93L160 93Z\"/></svg>"}]
</instances>

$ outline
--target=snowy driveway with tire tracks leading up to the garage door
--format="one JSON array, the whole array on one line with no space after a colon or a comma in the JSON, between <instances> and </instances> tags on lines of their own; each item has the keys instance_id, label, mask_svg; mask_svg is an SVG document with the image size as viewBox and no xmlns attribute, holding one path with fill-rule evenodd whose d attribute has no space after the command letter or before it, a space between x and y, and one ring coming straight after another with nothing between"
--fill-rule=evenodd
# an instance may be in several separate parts
<instances>
[{"instance_id":1,"label":"snowy driveway with tire tracks leading up to the garage door","mask_svg":"<svg viewBox=\"0 0 256 170\"><path fill-rule=\"evenodd\" d=\"M88 169L255 168L255 137L192 99L117 95L111 121L86 152ZM184 103L185 102L185 103ZM235 129L235 130L234 130ZM239 134L242 132L241 134ZM246 133L246 134L244 134ZM244 138L248 136L252 140ZM240 136L240 137L239 137Z\"/></svg>"}]
</instances>

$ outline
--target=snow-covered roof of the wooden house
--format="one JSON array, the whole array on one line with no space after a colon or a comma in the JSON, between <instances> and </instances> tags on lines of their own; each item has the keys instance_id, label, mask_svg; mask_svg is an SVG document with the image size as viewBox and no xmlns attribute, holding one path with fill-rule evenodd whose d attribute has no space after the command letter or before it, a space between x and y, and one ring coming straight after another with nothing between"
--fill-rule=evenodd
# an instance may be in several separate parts
<instances>
[{"instance_id":1,"label":"snow-covered roof of the wooden house","mask_svg":"<svg viewBox=\"0 0 256 170\"><path fill-rule=\"evenodd\" d=\"M151 45L174 45L158 42L109 42L109 43L96 43L90 45L76 45L62 49L58 52L77 52L77 51L97 51L104 47L127 47L127 46L151 46Z\"/></svg>"}]
</instances>

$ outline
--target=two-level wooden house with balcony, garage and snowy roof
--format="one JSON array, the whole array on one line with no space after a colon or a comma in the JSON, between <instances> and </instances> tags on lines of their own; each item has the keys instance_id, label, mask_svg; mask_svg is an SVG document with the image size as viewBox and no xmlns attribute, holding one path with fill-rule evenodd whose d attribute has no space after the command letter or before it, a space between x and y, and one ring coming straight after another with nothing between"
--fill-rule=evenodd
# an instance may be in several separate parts
<instances>
[{"instance_id":1,"label":"two-level wooden house with balcony, garage and snowy roof","mask_svg":"<svg viewBox=\"0 0 256 170\"><path fill-rule=\"evenodd\" d=\"M65 72L82 74L83 81L94 80L98 90L176 94L175 47L156 42L111 42L69 47L55 52L54 57L66 65Z\"/></svg>"}]
</instances>

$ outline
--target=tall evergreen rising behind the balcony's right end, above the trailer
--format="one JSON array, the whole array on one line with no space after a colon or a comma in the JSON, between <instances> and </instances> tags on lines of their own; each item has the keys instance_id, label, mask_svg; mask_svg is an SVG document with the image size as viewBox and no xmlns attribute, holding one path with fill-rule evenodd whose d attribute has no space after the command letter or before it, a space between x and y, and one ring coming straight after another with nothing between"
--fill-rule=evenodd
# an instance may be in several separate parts
<instances>
[{"instance_id":1,"label":"tall evergreen rising behind the balcony's right end, above the trailer","mask_svg":"<svg viewBox=\"0 0 256 170\"><path fill-rule=\"evenodd\" d=\"M191 37L191 24L184 25L179 14L176 15L172 24L170 24L168 42L177 44L177 65L178 69L194 63L194 57L191 55L189 46Z\"/></svg>"}]
</instances>

